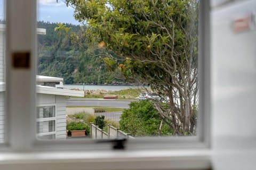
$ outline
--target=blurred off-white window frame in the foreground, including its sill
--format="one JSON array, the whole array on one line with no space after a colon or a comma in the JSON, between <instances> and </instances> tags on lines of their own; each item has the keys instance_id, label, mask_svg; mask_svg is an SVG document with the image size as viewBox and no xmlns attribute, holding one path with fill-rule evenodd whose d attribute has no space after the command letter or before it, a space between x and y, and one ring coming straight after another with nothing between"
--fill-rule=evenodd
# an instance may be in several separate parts
<instances>
[{"instance_id":1,"label":"blurred off-white window frame in the foreground, including its sill","mask_svg":"<svg viewBox=\"0 0 256 170\"><path fill-rule=\"evenodd\" d=\"M199 11L198 135L144 137L127 141L126 150L92 140L36 140L36 1L7 0L6 128L2 164L15 169L210 169L210 2ZM15 30L19 28L19 30ZM29 69L12 67L13 52L30 52ZM204 56L204 57L202 57ZM22 83L20 81L22 80ZM204 112L204 114L202 114ZM70 152L70 149L73 151ZM60 153L60 150L62 151ZM11 153L9 151L12 151ZM40 151L40 152L37 152ZM51 151L49 153L49 151ZM6 156L5 152L0 153ZM51 164L47 164L51 163ZM0 164L1 167L1 164ZM34 166L35 167L35 166Z\"/></svg>"}]
</instances>

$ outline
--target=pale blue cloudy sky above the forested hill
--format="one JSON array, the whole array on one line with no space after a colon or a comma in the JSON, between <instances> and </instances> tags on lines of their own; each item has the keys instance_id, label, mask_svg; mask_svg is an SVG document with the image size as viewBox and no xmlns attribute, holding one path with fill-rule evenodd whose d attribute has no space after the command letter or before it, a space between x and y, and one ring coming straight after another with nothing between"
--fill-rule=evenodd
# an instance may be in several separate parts
<instances>
[{"instance_id":1,"label":"pale blue cloudy sky above the forested hill","mask_svg":"<svg viewBox=\"0 0 256 170\"><path fill-rule=\"evenodd\" d=\"M0 19L4 19L3 3L0 0ZM73 17L74 9L67 7L63 0L37 0L37 21L64 22L80 25Z\"/></svg>"}]
</instances>

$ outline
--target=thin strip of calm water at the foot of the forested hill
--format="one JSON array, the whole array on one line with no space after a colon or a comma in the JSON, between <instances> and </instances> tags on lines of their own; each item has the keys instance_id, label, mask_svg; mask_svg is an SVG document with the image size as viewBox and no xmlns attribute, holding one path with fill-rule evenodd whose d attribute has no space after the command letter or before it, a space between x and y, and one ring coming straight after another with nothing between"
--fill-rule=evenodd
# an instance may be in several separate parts
<instances>
[{"instance_id":1,"label":"thin strip of calm water at the foot of the forested hill","mask_svg":"<svg viewBox=\"0 0 256 170\"><path fill-rule=\"evenodd\" d=\"M138 88L138 86L114 86L114 85L63 85L64 88L79 88L84 90L106 90L106 91L119 91L129 88Z\"/></svg>"}]
</instances>

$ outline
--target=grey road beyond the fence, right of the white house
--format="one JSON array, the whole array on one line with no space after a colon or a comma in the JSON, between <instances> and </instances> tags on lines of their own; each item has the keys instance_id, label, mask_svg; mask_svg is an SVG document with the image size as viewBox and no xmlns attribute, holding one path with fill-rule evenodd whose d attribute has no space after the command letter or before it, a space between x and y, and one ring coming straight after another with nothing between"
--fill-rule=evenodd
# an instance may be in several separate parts
<instances>
[{"instance_id":1,"label":"grey road beyond the fence, right of the white house","mask_svg":"<svg viewBox=\"0 0 256 170\"><path fill-rule=\"evenodd\" d=\"M73 98L67 99L67 106L105 106L129 108L132 101L136 100L104 100L104 99L89 99L89 98Z\"/></svg>"}]
</instances>

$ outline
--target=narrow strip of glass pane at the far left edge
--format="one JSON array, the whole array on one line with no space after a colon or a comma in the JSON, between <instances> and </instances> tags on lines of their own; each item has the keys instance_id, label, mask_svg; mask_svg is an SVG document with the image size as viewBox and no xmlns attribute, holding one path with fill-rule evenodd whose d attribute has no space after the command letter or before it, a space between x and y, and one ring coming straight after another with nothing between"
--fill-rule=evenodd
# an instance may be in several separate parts
<instances>
[{"instance_id":1,"label":"narrow strip of glass pane at the far left edge","mask_svg":"<svg viewBox=\"0 0 256 170\"><path fill-rule=\"evenodd\" d=\"M4 95L5 95L5 5L4 0L0 0L0 143L4 142Z\"/></svg>"}]
</instances>

